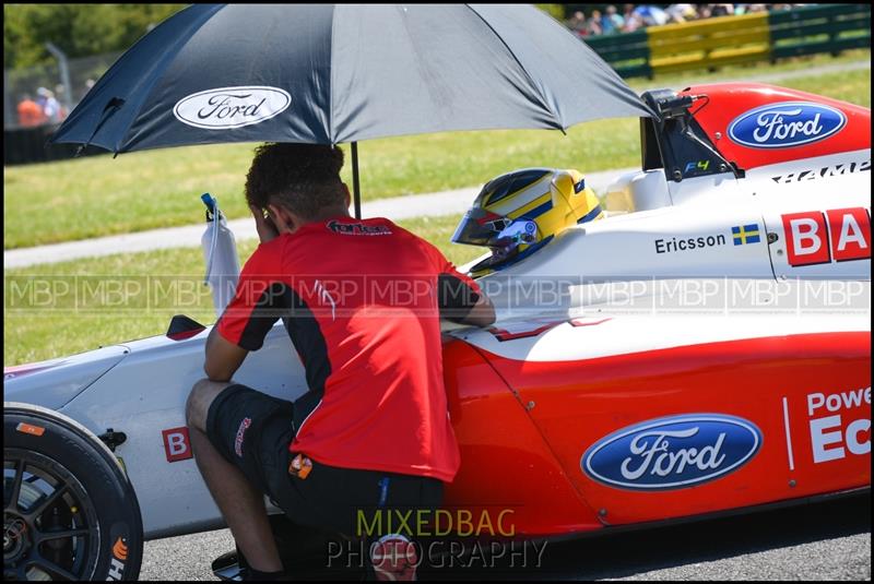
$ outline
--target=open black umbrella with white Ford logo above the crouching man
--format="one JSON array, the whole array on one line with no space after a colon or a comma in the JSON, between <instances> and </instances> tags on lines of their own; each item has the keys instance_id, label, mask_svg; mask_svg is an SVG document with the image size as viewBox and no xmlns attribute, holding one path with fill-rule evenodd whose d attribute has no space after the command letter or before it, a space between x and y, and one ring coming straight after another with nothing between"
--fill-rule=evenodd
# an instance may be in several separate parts
<instances>
[{"instance_id":1,"label":"open black umbrella with white Ford logo above the crouching man","mask_svg":"<svg viewBox=\"0 0 874 584\"><path fill-rule=\"evenodd\" d=\"M651 111L532 5L194 4L141 38L52 138L115 153L352 144Z\"/></svg>"}]
</instances>

